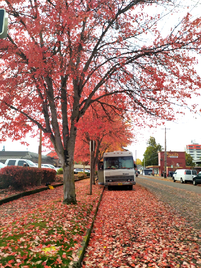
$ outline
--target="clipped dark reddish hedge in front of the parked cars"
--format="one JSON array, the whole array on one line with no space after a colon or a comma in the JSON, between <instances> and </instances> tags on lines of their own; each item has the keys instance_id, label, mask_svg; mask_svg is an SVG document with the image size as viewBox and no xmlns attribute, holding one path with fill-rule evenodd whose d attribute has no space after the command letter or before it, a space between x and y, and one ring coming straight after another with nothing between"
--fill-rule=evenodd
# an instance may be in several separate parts
<instances>
[{"instance_id":1,"label":"clipped dark reddish hedge in front of the parked cars","mask_svg":"<svg viewBox=\"0 0 201 268\"><path fill-rule=\"evenodd\" d=\"M0 188L11 186L23 189L27 186L43 185L46 182L54 182L55 176L56 171L50 168L6 166L0 169Z\"/></svg>"}]
</instances>

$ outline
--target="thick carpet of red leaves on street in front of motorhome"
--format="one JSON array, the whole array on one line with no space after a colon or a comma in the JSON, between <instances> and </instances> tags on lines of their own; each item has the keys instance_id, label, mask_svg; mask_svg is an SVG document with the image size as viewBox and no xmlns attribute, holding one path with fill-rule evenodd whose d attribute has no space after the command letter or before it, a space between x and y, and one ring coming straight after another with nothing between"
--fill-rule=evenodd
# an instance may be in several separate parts
<instances>
[{"instance_id":1,"label":"thick carpet of red leaves on street in front of motorhome","mask_svg":"<svg viewBox=\"0 0 201 268\"><path fill-rule=\"evenodd\" d=\"M145 188L106 190L82 268L201 267L200 240L200 230Z\"/></svg>"}]
</instances>

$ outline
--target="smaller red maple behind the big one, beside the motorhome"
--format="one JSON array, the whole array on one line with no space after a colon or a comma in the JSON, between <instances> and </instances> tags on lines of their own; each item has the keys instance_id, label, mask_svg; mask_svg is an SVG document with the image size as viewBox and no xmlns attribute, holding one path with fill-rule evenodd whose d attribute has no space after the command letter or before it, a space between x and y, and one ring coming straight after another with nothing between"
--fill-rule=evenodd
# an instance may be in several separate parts
<instances>
[{"instance_id":1,"label":"smaller red maple behind the big one, beside the motorhome","mask_svg":"<svg viewBox=\"0 0 201 268\"><path fill-rule=\"evenodd\" d=\"M124 147L132 143L134 137L130 119L114 111L114 104L109 102L107 104L107 109L103 109L99 104L92 105L77 124L74 159L90 162L89 144L90 140L93 140L94 151L90 163L92 174L97 161L103 158L104 152L124 150Z\"/></svg>"}]
</instances>

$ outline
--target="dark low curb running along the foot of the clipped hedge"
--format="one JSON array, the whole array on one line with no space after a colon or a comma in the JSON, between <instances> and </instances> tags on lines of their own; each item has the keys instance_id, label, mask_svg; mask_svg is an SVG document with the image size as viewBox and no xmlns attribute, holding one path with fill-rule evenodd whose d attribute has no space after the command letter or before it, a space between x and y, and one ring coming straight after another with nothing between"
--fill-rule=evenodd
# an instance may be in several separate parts
<instances>
[{"instance_id":1,"label":"dark low curb running along the foot of the clipped hedge","mask_svg":"<svg viewBox=\"0 0 201 268\"><path fill-rule=\"evenodd\" d=\"M84 178L88 178L88 177L84 177ZM75 182L84 180L84 178L78 178L77 180L75 180ZM59 187L59 186L62 186L62 185L63 185L63 183L56 184L56 185L53 185L53 187L56 188L56 187ZM46 191L48 189L49 189L49 187L47 186L47 187L43 187L43 188L39 188L39 189L35 189L35 190L30 190L30 191L27 191L27 192L22 192L22 193L19 193L19 194L10 196L10 197L6 197L6 198L0 200L0 206L5 204L5 203L8 203L10 201L17 200L17 199L19 199L21 197L34 195L34 194Z\"/></svg>"}]
</instances>

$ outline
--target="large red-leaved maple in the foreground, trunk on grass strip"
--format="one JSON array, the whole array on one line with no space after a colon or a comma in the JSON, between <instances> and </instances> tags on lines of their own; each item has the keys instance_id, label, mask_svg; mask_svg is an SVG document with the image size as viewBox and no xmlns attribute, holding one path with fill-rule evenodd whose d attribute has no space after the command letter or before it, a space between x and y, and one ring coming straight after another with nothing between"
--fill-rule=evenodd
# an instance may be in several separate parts
<instances>
[{"instance_id":1,"label":"large red-leaved maple in the foreground, trunk on grass strip","mask_svg":"<svg viewBox=\"0 0 201 268\"><path fill-rule=\"evenodd\" d=\"M187 14L163 38L164 13L146 13L152 5L176 11L176 0L4 3L1 136L21 139L33 126L44 132L62 162L64 203L76 203L76 125L91 104L110 98L122 110L172 119L172 104L200 87L189 53L199 51L200 18Z\"/></svg>"}]
</instances>

